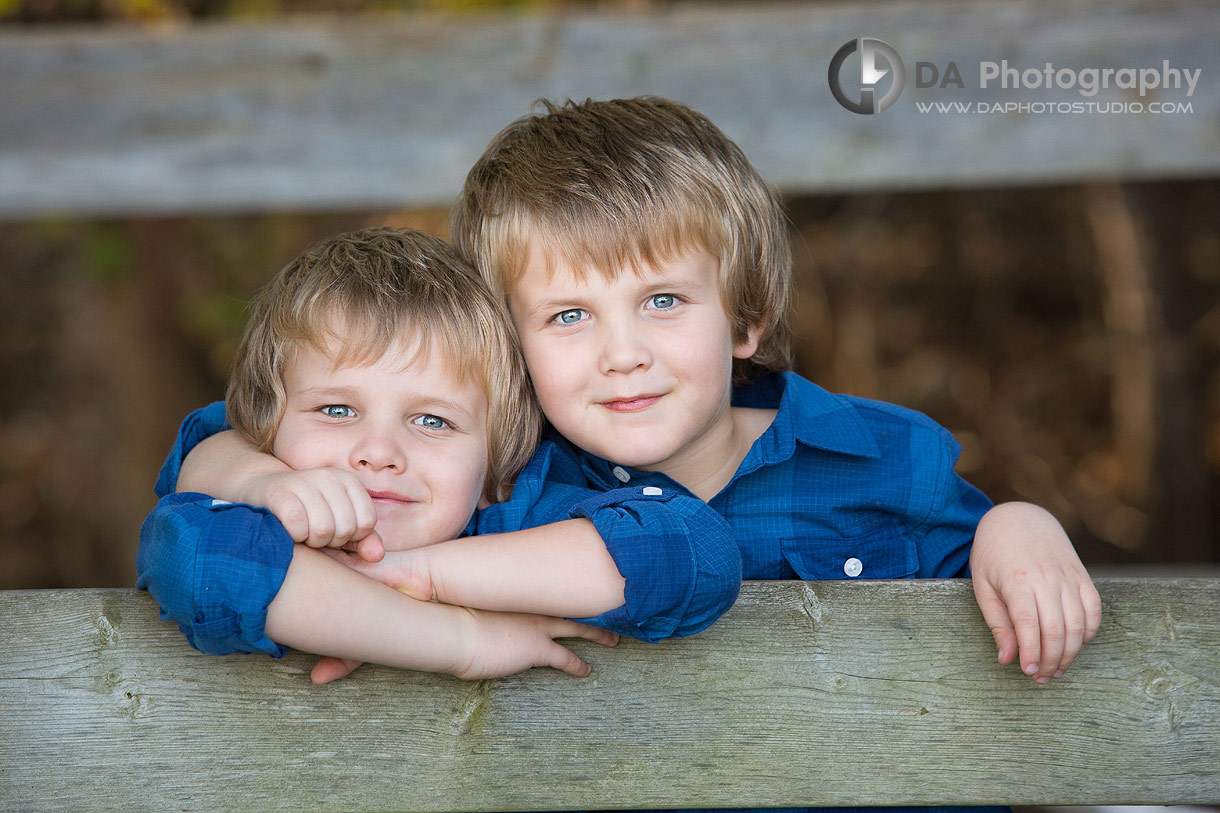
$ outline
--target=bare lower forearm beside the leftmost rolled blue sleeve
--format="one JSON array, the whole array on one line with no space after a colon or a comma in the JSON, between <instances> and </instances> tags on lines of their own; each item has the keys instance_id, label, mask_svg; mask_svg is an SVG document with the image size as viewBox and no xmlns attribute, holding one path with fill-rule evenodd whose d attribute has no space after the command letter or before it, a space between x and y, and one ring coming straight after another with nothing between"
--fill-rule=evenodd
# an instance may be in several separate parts
<instances>
[{"instance_id":1,"label":"bare lower forearm beside the leftmost rolled blue sleeve","mask_svg":"<svg viewBox=\"0 0 1220 813\"><path fill-rule=\"evenodd\" d=\"M296 546L267 608L277 643L340 658L423 671L460 671L470 653L470 613L428 604Z\"/></svg>"}]
</instances>

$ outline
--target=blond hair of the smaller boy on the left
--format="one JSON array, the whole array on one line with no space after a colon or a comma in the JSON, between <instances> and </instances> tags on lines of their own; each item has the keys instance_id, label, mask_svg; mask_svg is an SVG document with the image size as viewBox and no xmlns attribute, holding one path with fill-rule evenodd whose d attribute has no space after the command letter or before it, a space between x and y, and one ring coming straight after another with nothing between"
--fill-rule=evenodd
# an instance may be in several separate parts
<instances>
[{"instance_id":1,"label":"blond hair of the smaller boy on the left","mask_svg":"<svg viewBox=\"0 0 1220 813\"><path fill-rule=\"evenodd\" d=\"M284 266L251 303L224 399L229 422L270 452L298 343L336 365L365 364L404 337L417 343L416 358L439 350L454 377L487 394L483 493L504 499L538 443L542 414L503 305L456 250L422 232L350 232Z\"/></svg>"}]
</instances>

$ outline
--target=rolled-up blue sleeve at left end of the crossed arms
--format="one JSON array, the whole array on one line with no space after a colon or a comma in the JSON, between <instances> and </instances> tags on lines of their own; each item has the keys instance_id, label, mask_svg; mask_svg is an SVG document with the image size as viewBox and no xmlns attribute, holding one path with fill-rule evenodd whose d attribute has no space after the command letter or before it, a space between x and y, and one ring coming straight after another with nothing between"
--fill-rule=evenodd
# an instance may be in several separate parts
<instances>
[{"instance_id":1,"label":"rolled-up blue sleeve at left end of the crossed arms","mask_svg":"<svg viewBox=\"0 0 1220 813\"><path fill-rule=\"evenodd\" d=\"M266 509L170 494L140 529L135 586L200 652L279 658L288 648L267 637L267 607L292 557L292 537Z\"/></svg>"}]
</instances>

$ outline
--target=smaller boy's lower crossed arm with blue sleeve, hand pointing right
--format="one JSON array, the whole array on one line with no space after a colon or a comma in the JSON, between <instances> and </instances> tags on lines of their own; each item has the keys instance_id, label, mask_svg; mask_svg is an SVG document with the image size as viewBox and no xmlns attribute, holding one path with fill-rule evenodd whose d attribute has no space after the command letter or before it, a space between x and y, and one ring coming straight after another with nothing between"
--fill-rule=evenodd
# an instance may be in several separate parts
<instances>
[{"instance_id":1,"label":"smaller boy's lower crossed arm with blue sleeve, hand pointing right","mask_svg":"<svg viewBox=\"0 0 1220 813\"><path fill-rule=\"evenodd\" d=\"M542 616L426 604L293 544L266 510L203 494L157 503L140 532L139 581L192 646L211 654L311 652L459 676L587 669L554 637L610 632ZM438 612L439 610L439 612Z\"/></svg>"}]
</instances>

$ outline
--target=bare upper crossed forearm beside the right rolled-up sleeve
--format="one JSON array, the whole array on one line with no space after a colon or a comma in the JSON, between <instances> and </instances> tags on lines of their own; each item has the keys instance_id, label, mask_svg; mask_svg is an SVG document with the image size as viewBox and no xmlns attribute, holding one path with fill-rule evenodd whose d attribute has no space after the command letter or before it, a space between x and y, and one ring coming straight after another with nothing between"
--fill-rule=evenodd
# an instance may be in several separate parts
<instances>
[{"instance_id":1,"label":"bare upper crossed forearm beside the right rolled-up sleeve","mask_svg":"<svg viewBox=\"0 0 1220 813\"><path fill-rule=\"evenodd\" d=\"M420 548L412 558L421 563L415 576L431 581L431 597L450 604L590 618L625 601L626 582L586 519L470 536Z\"/></svg>"}]
</instances>

